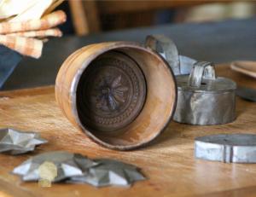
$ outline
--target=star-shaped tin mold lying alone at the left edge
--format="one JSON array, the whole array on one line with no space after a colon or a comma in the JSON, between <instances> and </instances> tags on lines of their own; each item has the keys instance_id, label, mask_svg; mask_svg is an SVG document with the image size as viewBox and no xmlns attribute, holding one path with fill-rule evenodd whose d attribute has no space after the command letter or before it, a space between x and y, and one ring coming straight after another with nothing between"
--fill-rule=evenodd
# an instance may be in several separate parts
<instances>
[{"instance_id":1,"label":"star-shaped tin mold lying alone at the left edge","mask_svg":"<svg viewBox=\"0 0 256 197\"><path fill-rule=\"evenodd\" d=\"M25 132L9 128L0 130L0 153L25 154L33 151L37 145L46 142L35 132Z\"/></svg>"}]
</instances>

